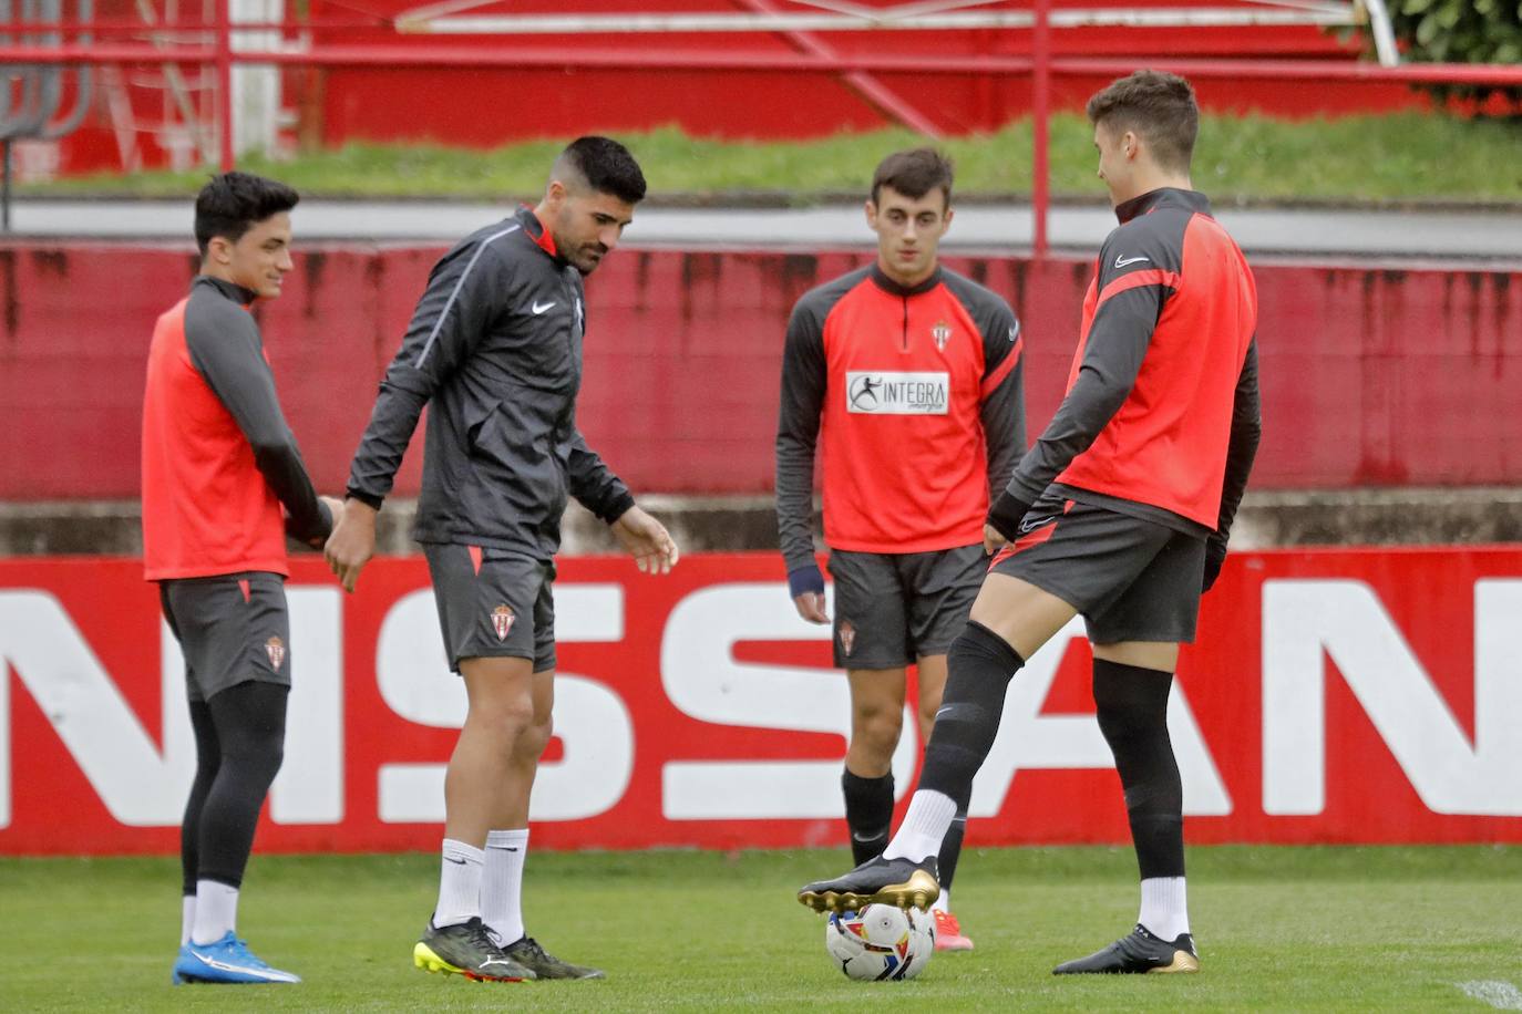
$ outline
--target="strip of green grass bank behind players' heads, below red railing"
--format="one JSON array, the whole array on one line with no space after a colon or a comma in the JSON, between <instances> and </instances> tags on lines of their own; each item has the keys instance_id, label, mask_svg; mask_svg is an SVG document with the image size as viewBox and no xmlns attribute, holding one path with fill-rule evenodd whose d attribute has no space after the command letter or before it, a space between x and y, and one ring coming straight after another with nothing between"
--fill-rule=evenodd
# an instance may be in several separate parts
<instances>
[{"instance_id":1,"label":"strip of green grass bank behind players' heads, below red railing","mask_svg":"<svg viewBox=\"0 0 1522 1014\"><path fill-rule=\"evenodd\" d=\"M644 164L654 196L735 199L764 195L807 204L863 192L877 161L921 143L907 131L840 134L793 143L714 141L677 129L621 135ZM292 161L248 160L251 172L279 176L303 193L329 196L530 198L563 138L489 152L440 144L347 144ZM963 196L1030 192L1030 125L948 138ZM1207 116L1195 155L1195 184L1228 201L1522 201L1522 122L1470 122L1420 112L1286 122L1262 116ZM1088 123L1052 123L1052 189L1100 199ZM204 172L85 176L23 193L184 196Z\"/></svg>"}]
</instances>

